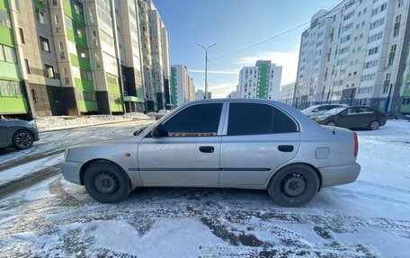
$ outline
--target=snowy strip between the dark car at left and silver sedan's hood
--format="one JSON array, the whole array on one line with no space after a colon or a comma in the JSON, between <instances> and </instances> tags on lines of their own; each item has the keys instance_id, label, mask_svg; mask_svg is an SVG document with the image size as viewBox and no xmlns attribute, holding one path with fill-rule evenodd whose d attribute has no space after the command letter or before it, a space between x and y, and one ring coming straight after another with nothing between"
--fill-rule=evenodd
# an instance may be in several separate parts
<instances>
[{"instance_id":1,"label":"snowy strip between the dark car at left and silver sedan's hood","mask_svg":"<svg viewBox=\"0 0 410 258\"><path fill-rule=\"evenodd\" d=\"M0 167L5 163L17 162L29 156L62 150L80 143L131 136L132 132L152 122L154 120L136 120L78 129L41 132L40 141L34 142L31 148L20 151L13 148L0 148Z\"/></svg>"}]
</instances>

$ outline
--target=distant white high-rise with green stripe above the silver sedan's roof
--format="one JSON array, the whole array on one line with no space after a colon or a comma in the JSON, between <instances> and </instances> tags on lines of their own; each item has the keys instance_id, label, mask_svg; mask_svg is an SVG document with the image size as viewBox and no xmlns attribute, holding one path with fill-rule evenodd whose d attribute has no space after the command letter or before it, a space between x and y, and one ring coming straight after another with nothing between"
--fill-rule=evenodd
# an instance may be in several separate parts
<instances>
[{"instance_id":1,"label":"distant white high-rise with green stripe above the silver sedan's roof","mask_svg":"<svg viewBox=\"0 0 410 258\"><path fill-rule=\"evenodd\" d=\"M271 61L256 61L254 67L243 67L239 72L237 93L241 98L279 101L281 70Z\"/></svg>"}]
</instances>

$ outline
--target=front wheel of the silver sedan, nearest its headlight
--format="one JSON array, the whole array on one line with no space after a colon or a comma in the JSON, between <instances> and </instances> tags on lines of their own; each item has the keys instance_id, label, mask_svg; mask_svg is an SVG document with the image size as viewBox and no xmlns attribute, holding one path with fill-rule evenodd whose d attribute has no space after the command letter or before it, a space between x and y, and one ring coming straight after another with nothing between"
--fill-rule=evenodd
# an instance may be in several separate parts
<instances>
[{"instance_id":1,"label":"front wheel of the silver sedan, nearest its headlight","mask_svg":"<svg viewBox=\"0 0 410 258\"><path fill-rule=\"evenodd\" d=\"M84 175L85 190L94 200L117 203L125 200L131 192L129 176L110 161L100 160L89 165Z\"/></svg>"}]
</instances>

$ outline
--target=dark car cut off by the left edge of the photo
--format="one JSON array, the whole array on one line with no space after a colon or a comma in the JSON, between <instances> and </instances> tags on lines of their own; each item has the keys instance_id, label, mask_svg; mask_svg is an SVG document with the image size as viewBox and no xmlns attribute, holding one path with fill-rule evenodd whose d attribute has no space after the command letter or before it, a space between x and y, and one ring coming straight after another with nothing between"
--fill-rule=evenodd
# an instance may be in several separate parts
<instances>
[{"instance_id":1,"label":"dark car cut off by the left edge of the photo","mask_svg":"<svg viewBox=\"0 0 410 258\"><path fill-rule=\"evenodd\" d=\"M39 139L39 131L30 122L0 120L0 147L26 149Z\"/></svg>"}]
</instances>

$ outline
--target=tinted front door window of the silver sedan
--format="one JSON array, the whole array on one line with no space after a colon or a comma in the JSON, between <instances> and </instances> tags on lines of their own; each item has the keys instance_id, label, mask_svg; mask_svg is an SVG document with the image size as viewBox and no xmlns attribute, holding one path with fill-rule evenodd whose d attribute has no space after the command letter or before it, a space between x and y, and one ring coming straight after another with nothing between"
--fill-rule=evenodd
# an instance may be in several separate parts
<instances>
[{"instance_id":1,"label":"tinted front door window of the silver sedan","mask_svg":"<svg viewBox=\"0 0 410 258\"><path fill-rule=\"evenodd\" d=\"M221 111L222 103L190 106L167 120L161 129L169 137L216 136Z\"/></svg>"}]
</instances>

